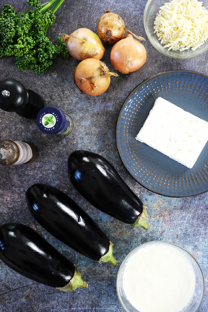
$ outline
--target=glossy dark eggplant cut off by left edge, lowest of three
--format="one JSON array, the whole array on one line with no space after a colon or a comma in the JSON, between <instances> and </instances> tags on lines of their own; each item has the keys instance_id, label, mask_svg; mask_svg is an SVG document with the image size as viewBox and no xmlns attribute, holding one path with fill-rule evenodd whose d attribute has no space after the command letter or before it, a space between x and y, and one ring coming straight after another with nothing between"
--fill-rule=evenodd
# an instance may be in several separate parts
<instances>
[{"instance_id":1,"label":"glossy dark eggplant cut off by left edge, lowest of three","mask_svg":"<svg viewBox=\"0 0 208 312\"><path fill-rule=\"evenodd\" d=\"M0 226L0 259L27 278L62 291L88 286L70 260L21 223Z\"/></svg>"}]
</instances>

